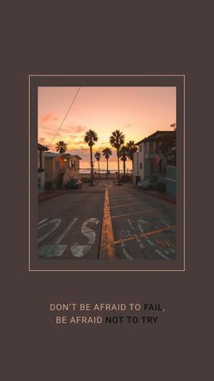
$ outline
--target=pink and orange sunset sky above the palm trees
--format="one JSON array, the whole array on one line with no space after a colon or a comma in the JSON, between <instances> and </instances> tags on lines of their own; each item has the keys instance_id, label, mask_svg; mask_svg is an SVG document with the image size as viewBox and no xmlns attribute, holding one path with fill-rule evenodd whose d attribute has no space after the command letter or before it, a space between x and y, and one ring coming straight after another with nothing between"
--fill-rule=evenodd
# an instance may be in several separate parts
<instances>
[{"instance_id":1,"label":"pink and orange sunset sky above the palm trees","mask_svg":"<svg viewBox=\"0 0 214 381\"><path fill-rule=\"evenodd\" d=\"M81 87L53 140L77 91L78 87L38 88L38 142L50 151L63 140L68 152L89 161L88 145L83 141L88 129L99 137L93 146L95 153L110 146L115 129L123 132L125 142L138 142L157 130L171 131L170 125L176 123L175 87ZM114 153L111 160L115 159Z\"/></svg>"}]
</instances>

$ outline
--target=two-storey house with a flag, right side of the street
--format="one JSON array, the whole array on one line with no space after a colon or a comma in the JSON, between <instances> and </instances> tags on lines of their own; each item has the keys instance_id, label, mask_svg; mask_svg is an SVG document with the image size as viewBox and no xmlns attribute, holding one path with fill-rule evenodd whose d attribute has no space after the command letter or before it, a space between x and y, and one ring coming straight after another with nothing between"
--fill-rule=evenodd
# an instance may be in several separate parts
<instances>
[{"instance_id":1,"label":"two-storey house with a flag, right side of the street","mask_svg":"<svg viewBox=\"0 0 214 381\"><path fill-rule=\"evenodd\" d=\"M175 196L176 131L156 131L136 145L139 150L133 155L133 183L137 184L146 176L155 175L167 193Z\"/></svg>"}]
</instances>

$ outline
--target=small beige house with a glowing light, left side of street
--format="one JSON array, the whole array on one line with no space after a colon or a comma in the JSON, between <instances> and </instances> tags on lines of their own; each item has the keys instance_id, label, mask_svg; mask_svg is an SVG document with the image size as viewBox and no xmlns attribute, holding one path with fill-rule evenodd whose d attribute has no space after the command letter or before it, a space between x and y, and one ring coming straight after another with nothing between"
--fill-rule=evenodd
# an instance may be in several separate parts
<instances>
[{"instance_id":1,"label":"small beige house with a glowing light, left side of street","mask_svg":"<svg viewBox=\"0 0 214 381\"><path fill-rule=\"evenodd\" d=\"M69 180L78 178L81 159L79 155L46 152L44 155L46 189L63 189Z\"/></svg>"}]
</instances>

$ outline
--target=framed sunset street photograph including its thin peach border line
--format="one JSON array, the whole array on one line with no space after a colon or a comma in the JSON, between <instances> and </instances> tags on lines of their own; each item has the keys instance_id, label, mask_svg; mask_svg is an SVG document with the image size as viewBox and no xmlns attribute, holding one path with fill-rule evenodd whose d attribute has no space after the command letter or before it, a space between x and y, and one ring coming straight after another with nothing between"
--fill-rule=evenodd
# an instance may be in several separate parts
<instances>
[{"instance_id":1,"label":"framed sunset street photograph including its thin peach border line","mask_svg":"<svg viewBox=\"0 0 214 381\"><path fill-rule=\"evenodd\" d=\"M184 75L29 75L30 271L185 271L184 101Z\"/></svg>"}]
</instances>

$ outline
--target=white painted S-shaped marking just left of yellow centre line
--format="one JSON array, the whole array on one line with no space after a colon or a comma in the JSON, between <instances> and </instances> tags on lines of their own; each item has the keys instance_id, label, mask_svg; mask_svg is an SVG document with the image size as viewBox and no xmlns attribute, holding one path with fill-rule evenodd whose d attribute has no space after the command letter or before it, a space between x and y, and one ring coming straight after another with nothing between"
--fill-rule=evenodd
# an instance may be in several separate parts
<instances>
[{"instance_id":1,"label":"white painted S-shaped marking just left of yellow centre line","mask_svg":"<svg viewBox=\"0 0 214 381\"><path fill-rule=\"evenodd\" d=\"M79 245L77 242L75 242L75 244L71 247L73 256L77 258L82 258L83 256L85 256L85 254L92 248L92 245L95 242L96 234L92 229L90 229L90 227L87 226L87 224L89 223L97 225L99 224L99 220L97 218L90 218L83 223L81 231L83 233L83 236L87 236L89 241L87 245Z\"/></svg>"}]
</instances>

